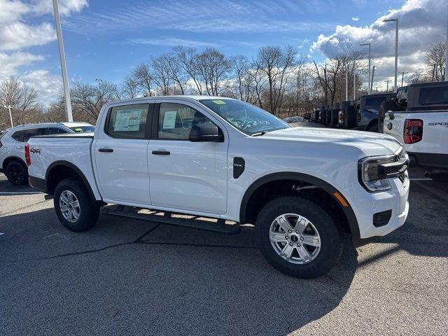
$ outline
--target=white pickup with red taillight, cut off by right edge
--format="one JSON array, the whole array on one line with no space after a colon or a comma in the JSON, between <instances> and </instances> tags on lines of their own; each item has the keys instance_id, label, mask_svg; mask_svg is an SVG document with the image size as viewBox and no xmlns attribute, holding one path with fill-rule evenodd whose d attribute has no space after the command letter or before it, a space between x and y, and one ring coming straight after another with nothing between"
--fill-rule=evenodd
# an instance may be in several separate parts
<instances>
[{"instance_id":1,"label":"white pickup with red taillight, cut off by right edge","mask_svg":"<svg viewBox=\"0 0 448 336\"><path fill-rule=\"evenodd\" d=\"M382 130L403 144L411 167L448 182L448 82L400 87L384 105Z\"/></svg>"}]
</instances>

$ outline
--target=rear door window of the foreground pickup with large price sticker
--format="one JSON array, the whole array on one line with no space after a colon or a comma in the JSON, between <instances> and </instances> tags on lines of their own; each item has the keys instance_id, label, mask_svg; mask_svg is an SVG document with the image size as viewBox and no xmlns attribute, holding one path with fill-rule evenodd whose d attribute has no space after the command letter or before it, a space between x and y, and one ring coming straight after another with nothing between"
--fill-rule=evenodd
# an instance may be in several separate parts
<instances>
[{"instance_id":1,"label":"rear door window of the foreground pickup with large price sticker","mask_svg":"<svg viewBox=\"0 0 448 336\"><path fill-rule=\"evenodd\" d=\"M106 132L115 138L144 139L148 109L149 104L113 107Z\"/></svg>"}]
</instances>

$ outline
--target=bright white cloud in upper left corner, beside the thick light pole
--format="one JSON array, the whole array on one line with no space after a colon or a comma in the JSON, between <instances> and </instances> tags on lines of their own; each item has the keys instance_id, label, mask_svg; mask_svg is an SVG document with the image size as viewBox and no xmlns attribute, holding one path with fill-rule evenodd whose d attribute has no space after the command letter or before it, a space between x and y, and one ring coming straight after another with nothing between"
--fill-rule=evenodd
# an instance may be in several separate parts
<instances>
[{"instance_id":1,"label":"bright white cloud in upper left corner, beside the thick light pole","mask_svg":"<svg viewBox=\"0 0 448 336\"><path fill-rule=\"evenodd\" d=\"M87 0L59 0L59 12L65 16L86 6ZM0 80L18 76L25 85L36 87L44 105L57 99L62 87L60 76L43 69L25 71L45 57L24 50L56 40L52 13L51 0L0 0ZM36 18L41 23L29 23L28 19L34 22Z\"/></svg>"}]
</instances>

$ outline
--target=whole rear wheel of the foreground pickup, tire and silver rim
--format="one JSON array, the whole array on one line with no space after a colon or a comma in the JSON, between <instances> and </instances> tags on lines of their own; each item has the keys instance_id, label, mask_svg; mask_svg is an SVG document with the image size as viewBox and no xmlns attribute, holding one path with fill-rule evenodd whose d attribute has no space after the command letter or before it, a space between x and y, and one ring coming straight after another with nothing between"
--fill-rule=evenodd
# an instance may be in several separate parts
<instances>
[{"instance_id":1,"label":"whole rear wheel of the foreground pickup, tire and silver rim","mask_svg":"<svg viewBox=\"0 0 448 336\"><path fill-rule=\"evenodd\" d=\"M78 179L59 182L55 189L54 204L57 218L70 231L88 230L98 221L99 207Z\"/></svg>"}]
</instances>

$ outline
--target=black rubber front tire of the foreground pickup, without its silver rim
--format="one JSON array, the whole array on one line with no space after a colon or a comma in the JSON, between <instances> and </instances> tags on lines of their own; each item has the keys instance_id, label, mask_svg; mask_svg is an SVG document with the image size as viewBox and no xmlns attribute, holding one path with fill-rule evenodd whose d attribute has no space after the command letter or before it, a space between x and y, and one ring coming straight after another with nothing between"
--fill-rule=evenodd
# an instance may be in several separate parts
<instances>
[{"instance_id":1,"label":"black rubber front tire of the foreground pickup, without its silver rim","mask_svg":"<svg viewBox=\"0 0 448 336\"><path fill-rule=\"evenodd\" d=\"M321 238L320 251L314 260L296 264L281 258L275 251L269 239L269 230L274 219L282 214L299 214L314 225ZM297 196L279 197L268 202L258 214L255 222L255 235L262 255L273 267L284 274L302 279L316 278L329 272L336 265L344 247L342 232L338 230L328 213L318 204ZM298 251L293 253L298 253Z\"/></svg>"}]
</instances>

